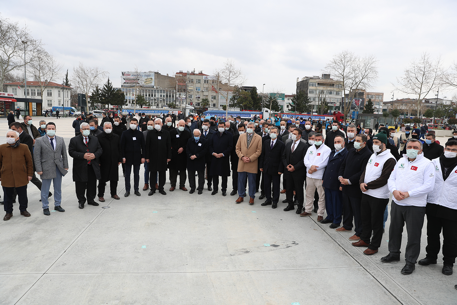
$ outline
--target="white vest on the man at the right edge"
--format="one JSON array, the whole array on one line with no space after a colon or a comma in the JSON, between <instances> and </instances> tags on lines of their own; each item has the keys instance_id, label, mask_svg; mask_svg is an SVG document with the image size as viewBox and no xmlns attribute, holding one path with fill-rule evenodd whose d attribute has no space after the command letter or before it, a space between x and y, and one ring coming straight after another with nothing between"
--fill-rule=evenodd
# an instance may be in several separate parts
<instances>
[{"instance_id":1,"label":"white vest on the man at the right edge","mask_svg":"<svg viewBox=\"0 0 457 305\"><path fill-rule=\"evenodd\" d=\"M432 160L435 165L435 186L428 193L427 202L442 205L450 209L457 209L457 166L452 169L446 181L443 179L440 158Z\"/></svg>"}]
</instances>

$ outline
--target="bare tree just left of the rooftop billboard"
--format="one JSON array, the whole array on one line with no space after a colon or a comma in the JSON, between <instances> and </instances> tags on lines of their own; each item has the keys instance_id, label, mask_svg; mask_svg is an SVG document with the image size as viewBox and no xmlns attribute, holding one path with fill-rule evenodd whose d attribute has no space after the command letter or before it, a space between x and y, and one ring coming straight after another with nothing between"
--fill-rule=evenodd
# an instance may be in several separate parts
<instances>
[{"instance_id":1,"label":"bare tree just left of the rooftop billboard","mask_svg":"<svg viewBox=\"0 0 457 305\"><path fill-rule=\"evenodd\" d=\"M99 67L86 67L80 62L78 67L73 67L73 82L84 93L89 104L90 91L95 89L103 78L108 75L107 71L102 71Z\"/></svg>"}]
</instances>

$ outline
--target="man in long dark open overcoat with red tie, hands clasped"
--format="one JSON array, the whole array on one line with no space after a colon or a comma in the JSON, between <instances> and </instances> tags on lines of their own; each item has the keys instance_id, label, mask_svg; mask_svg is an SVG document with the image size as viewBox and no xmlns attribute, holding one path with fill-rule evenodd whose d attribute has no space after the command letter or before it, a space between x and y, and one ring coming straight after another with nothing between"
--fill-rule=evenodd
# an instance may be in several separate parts
<instances>
[{"instance_id":1,"label":"man in long dark open overcoat with red tie, hands clasped","mask_svg":"<svg viewBox=\"0 0 457 305\"><path fill-rule=\"evenodd\" d=\"M101 179L99 158L103 152L97 137L90 135L88 123L81 123L81 134L70 139L68 154L73 158L73 181L79 208L84 209L87 189L87 204L99 205L94 201L97 180Z\"/></svg>"}]
</instances>

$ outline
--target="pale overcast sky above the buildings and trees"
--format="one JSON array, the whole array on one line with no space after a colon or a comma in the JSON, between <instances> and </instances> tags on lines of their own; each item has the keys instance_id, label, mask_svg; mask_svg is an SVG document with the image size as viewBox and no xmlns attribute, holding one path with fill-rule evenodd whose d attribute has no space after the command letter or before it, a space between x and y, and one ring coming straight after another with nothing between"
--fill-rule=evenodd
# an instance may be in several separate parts
<instances>
[{"instance_id":1,"label":"pale overcast sky above the buildings and trees","mask_svg":"<svg viewBox=\"0 0 457 305\"><path fill-rule=\"evenodd\" d=\"M445 66L457 61L455 0L1 3L1 14L27 24L70 78L82 61L108 71L114 86L121 71L135 65L161 74L195 69L211 75L232 59L246 86L261 92L265 83L265 92L292 94L298 77L320 75L335 53L349 49L377 57L379 79L371 91L390 100L391 82L424 51L441 55ZM440 90L440 97L452 94Z\"/></svg>"}]
</instances>

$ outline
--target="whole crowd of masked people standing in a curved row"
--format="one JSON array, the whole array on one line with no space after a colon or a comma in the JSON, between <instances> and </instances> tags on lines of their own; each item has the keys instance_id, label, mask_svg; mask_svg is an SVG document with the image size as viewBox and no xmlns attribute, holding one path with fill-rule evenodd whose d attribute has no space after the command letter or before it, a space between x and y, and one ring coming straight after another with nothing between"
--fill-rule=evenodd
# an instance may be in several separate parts
<instances>
[{"instance_id":1,"label":"whole crowd of masked people standing in a curved row","mask_svg":"<svg viewBox=\"0 0 457 305\"><path fill-rule=\"evenodd\" d=\"M103 113L99 123L98 118L80 115L74 120L75 136L68 145L79 208L84 209L85 203L98 206L96 199L105 202L108 182L111 197L120 199L117 185L121 164L124 197L132 191L136 196L142 195L142 165L142 190L148 191L148 196L167 194L168 170L169 192L179 188L202 194L206 188L216 195L221 180L220 191L227 196L231 176L229 194L238 195L235 203L249 198L249 204L254 204L260 189L259 199L265 199L260 205L276 209L280 194L285 193L282 203L287 205L283 211L295 211L301 217L316 214L320 224L342 233L353 232L348 239L353 246L366 247L366 255L378 252L390 214L389 254L380 259L400 260L406 225L403 274L414 271L426 214L426 256L419 264L437 263L442 232L442 273L452 274L457 257L457 131L443 147L434 133L424 134L422 140L421 130L411 130L409 126L396 133L394 128L380 124L377 133L373 133L371 128L350 122L313 123L294 118L277 121L193 115L180 119L171 113L141 113L127 120L122 115ZM49 197L53 195L54 209L64 212L61 184L69 163L66 144L56 134L56 124L42 120L36 128L26 115L24 122L11 122L9 127L7 143L0 145L4 220L12 217L16 194L21 215L30 216L29 181L41 190L44 215L50 215ZM54 193L49 192L51 181Z\"/></svg>"}]
</instances>

